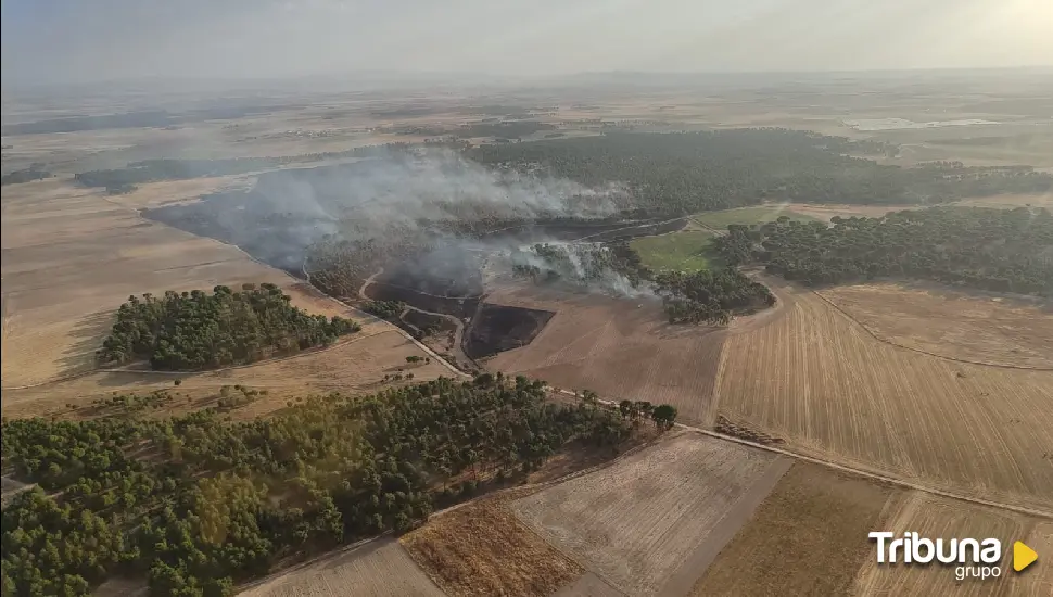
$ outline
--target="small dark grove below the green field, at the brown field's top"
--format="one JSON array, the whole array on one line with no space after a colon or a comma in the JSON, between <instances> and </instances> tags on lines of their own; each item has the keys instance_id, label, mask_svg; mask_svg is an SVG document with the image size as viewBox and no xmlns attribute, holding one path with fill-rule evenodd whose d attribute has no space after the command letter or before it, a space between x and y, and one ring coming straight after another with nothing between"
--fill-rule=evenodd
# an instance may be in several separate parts
<instances>
[{"instance_id":1,"label":"small dark grove below the green field, at the brown field's top","mask_svg":"<svg viewBox=\"0 0 1053 597\"><path fill-rule=\"evenodd\" d=\"M734 267L694 272L663 271L655 276L670 323L726 325L737 313L775 305L775 295Z\"/></svg>"}]
</instances>

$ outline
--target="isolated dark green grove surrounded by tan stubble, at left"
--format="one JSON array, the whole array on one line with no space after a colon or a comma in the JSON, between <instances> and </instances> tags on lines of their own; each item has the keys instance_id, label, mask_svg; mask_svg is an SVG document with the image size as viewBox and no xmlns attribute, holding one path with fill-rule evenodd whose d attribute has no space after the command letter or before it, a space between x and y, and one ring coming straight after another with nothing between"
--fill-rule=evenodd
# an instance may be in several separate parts
<instances>
[{"instance_id":1,"label":"isolated dark green grove surrounded by tan stubble, at left","mask_svg":"<svg viewBox=\"0 0 1053 597\"><path fill-rule=\"evenodd\" d=\"M332 343L359 331L350 319L309 315L274 284L218 285L129 296L98 352L102 364L148 359L154 369L196 370L252 363Z\"/></svg>"}]
</instances>

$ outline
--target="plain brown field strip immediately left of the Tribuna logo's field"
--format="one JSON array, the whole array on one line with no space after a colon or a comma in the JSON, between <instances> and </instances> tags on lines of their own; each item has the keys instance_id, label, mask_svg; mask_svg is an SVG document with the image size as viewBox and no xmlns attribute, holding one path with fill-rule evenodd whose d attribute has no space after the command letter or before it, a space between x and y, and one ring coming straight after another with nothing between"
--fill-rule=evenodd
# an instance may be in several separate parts
<instances>
[{"instance_id":1,"label":"plain brown field strip immediately left of the Tribuna logo's field","mask_svg":"<svg viewBox=\"0 0 1053 597\"><path fill-rule=\"evenodd\" d=\"M692 595L847 595L898 492L797 462Z\"/></svg>"}]
</instances>

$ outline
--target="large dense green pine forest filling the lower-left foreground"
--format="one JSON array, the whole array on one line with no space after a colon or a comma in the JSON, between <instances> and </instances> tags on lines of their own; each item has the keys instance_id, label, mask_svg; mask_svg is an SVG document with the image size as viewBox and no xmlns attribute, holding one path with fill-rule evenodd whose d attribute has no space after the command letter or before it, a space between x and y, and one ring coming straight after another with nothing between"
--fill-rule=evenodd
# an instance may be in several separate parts
<instances>
[{"instance_id":1,"label":"large dense green pine forest filling the lower-left foreground","mask_svg":"<svg viewBox=\"0 0 1053 597\"><path fill-rule=\"evenodd\" d=\"M571 443L617 449L630 433L617 410L499 373L331 394L244 423L216 410L5 420L4 466L38 486L3 509L3 594L145 576L152 595L232 595L283 559L406 531Z\"/></svg>"}]
</instances>

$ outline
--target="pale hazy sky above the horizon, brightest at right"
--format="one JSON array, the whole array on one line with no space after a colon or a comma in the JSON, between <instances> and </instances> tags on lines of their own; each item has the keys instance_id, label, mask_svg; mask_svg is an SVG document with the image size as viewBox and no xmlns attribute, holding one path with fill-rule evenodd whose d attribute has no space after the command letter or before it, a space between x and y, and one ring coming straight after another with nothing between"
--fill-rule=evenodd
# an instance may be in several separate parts
<instances>
[{"instance_id":1,"label":"pale hazy sky above the horizon, brightest at right","mask_svg":"<svg viewBox=\"0 0 1053 597\"><path fill-rule=\"evenodd\" d=\"M3 0L3 78L1053 64L1053 0Z\"/></svg>"}]
</instances>

